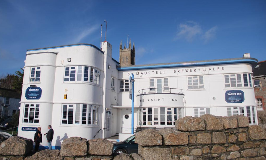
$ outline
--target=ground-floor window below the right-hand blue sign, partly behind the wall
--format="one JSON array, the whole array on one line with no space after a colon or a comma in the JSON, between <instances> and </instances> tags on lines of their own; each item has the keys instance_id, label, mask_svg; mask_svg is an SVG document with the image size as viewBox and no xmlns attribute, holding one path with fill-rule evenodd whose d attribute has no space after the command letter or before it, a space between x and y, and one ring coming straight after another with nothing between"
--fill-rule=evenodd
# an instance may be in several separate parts
<instances>
[{"instance_id":1,"label":"ground-floor window below the right-hand blue sign, partly behind the wall","mask_svg":"<svg viewBox=\"0 0 266 160\"><path fill-rule=\"evenodd\" d=\"M244 107L228 107L227 116L232 115L243 115L249 117L249 124L256 124L256 110L255 106L244 106Z\"/></svg>"}]
</instances>

